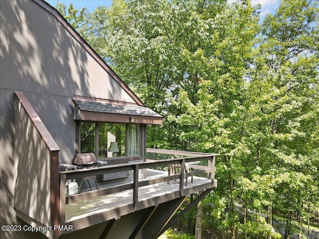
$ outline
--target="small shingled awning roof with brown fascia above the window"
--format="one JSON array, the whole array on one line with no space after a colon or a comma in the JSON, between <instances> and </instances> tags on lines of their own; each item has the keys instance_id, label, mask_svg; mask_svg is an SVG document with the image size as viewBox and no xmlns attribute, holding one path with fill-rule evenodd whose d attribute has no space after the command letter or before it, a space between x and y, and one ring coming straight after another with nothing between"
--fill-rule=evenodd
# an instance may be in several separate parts
<instances>
[{"instance_id":1,"label":"small shingled awning roof with brown fascia above the window","mask_svg":"<svg viewBox=\"0 0 319 239\"><path fill-rule=\"evenodd\" d=\"M163 117L151 109L136 104L102 100L96 98L73 97L74 119L161 124Z\"/></svg>"}]
</instances>

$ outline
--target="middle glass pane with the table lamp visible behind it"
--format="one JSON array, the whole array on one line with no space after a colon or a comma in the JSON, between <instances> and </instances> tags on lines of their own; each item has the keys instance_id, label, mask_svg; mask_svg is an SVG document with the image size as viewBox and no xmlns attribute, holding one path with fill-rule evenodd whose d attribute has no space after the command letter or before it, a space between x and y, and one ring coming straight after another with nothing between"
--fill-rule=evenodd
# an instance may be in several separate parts
<instances>
[{"instance_id":1,"label":"middle glass pane with the table lamp visible behind it","mask_svg":"<svg viewBox=\"0 0 319 239\"><path fill-rule=\"evenodd\" d=\"M99 123L99 158L121 156L126 156L125 124Z\"/></svg>"}]
</instances>

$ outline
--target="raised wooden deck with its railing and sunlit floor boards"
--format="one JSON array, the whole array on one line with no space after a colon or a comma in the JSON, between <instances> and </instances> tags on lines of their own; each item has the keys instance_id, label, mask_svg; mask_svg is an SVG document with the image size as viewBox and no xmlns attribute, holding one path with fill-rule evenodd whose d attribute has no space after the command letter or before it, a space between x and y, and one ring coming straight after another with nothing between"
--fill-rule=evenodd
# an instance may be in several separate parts
<instances>
[{"instance_id":1,"label":"raised wooden deck with its railing and sunlit floor boards","mask_svg":"<svg viewBox=\"0 0 319 239\"><path fill-rule=\"evenodd\" d=\"M216 187L216 155L147 149L146 162L60 172L60 225L79 230ZM126 177L99 181L101 176L116 173ZM69 179L87 181L90 189L66 196L65 183Z\"/></svg>"}]
</instances>

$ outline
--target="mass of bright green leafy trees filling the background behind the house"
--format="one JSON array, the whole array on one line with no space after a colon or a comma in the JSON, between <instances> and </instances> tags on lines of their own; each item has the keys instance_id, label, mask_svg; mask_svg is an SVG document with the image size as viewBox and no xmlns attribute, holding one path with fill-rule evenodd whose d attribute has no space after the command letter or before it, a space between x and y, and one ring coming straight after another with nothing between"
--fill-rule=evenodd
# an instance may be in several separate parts
<instances>
[{"instance_id":1,"label":"mass of bright green leafy trees filling the background behind the house","mask_svg":"<svg viewBox=\"0 0 319 239\"><path fill-rule=\"evenodd\" d=\"M278 238L260 216L268 208L287 228L316 222L318 1L283 0L263 24L249 0L114 0L91 13L59 10L164 116L148 127L149 147L221 154L203 238ZM192 234L194 217L178 231Z\"/></svg>"}]
</instances>

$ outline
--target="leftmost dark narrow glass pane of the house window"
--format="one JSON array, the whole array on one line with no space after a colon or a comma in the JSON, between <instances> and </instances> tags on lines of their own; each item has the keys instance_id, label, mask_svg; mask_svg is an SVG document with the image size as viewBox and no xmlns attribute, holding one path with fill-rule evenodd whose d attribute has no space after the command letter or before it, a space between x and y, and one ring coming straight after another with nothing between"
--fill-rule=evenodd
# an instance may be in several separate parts
<instances>
[{"instance_id":1,"label":"leftmost dark narrow glass pane of the house window","mask_svg":"<svg viewBox=\"0 0 319 239\"><path fill-rule=\"evenodd\" d=\"M95 123L81 122L80 131L81 152L94 152Z\"/></svg>"}]
</instances>

